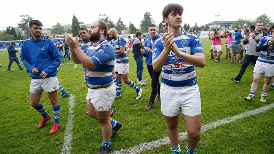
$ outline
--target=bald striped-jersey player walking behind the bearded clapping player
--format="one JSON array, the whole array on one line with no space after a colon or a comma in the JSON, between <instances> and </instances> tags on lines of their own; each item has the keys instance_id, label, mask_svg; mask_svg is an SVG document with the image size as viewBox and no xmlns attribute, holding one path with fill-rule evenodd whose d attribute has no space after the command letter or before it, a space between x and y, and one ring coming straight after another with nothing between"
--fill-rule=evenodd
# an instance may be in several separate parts
<instances>
[{"instance_id":1,"label":"bald striped-jersey player walking behind the bearded clapping player","mask_svg":"<svg viewBox=\"0 0 274 154\"><path fill-rule=\"evenodd\" d=\"M141 98L142 89L139 88L133 81L129 79L130 63L126 55L126 42L125 39L117 34L116 29L111 28L108 31L109 37L115 40L114 50L116 54L116 64L114 72L116 73L117 90L115 98L121 98L122 79L124 83L134 88L137 93L136 100Z\"/></svg>"}]
</instances>

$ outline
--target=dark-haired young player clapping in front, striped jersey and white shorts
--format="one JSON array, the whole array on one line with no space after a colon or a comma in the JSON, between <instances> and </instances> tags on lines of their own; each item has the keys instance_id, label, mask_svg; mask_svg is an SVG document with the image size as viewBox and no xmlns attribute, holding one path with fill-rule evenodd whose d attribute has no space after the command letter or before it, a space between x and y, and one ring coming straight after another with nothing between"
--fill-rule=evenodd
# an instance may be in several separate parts
<instances>
[{"instance_id":1,"label":"dark-haired young player clapping in front, striped jersey and white shorts","mask_svg":"<svg viewBox=\"0 0 274 154\"><path fill-rule=\"evenodd\" d=\"M161 109L168 125L168 137L173 154L180 154L178 124L180 110L187 131L187 153L194 154L200 139L201 97L195 73L205 66L205 54L200 39L181 31L183 7L170 3L163 9L168 33L154 42L152 66L162 69Z\"/></svg>"}]
</instances>

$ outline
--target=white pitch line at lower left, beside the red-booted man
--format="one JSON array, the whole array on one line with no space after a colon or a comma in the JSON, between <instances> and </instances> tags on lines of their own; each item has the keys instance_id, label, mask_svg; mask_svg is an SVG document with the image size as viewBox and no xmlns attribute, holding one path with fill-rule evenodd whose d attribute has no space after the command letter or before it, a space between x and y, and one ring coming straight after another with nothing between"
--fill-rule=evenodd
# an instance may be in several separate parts
<instances>
[{"instance_id":1,"label":"white pitch line at lower left, beside the red-booted man","mask_svg":"<svg viewBox=\"0 0 274 154\"><path fill-rule=\"evenodd\" d=\"M66 127L64 144L61 150L61 154L70 154L71 149L71 140L72 140L72 131L73 131L73 117L74 117L74 94L70 94L69 97L69 116L68 116L68 124Z\"/></svg>"}]
</instances>

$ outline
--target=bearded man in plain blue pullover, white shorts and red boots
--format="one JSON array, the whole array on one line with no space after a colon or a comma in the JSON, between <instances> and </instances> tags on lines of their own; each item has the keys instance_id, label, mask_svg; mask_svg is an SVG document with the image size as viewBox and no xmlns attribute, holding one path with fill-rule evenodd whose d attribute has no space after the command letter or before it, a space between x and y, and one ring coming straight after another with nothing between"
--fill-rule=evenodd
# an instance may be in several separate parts
<instances>
[{"instance_id":1,"label":"bearded man in plain blue pullover, white shorts and red boots","mask_svg":"<svg viewBox=\"0 0 274 154\"><path fill-rule=\"evenodd\" d=\"M50 120L50 115L40 102L44 90L48 94L54 113L54 124L50 130L50 134L54 134L60 126L60 105L57 100L59 82L56 74L61 63L61 56L57 44L42 35L42 28L43 24L38 20L29 22L32 37L22 45L20 57L25 67L30 70L30 76L32 77L30 85L31 106L43 116L38 128L44 127L46 122Z\"/></svg>"}]
</instances>

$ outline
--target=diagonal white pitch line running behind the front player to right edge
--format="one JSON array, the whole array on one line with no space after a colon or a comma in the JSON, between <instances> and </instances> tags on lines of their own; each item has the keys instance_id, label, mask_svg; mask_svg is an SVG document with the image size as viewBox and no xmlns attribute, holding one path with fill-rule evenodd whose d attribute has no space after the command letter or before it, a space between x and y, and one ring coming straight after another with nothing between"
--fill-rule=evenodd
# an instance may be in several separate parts
<instances>
[{"instance_id":1,"label":"diagonal white pitch line running behind the front player to right edge","mask_svg":"<svg viewBox=\"0 0 274 154\"><path fill-rule=\"evenodd\" d=\"M211 124L203 125L201 127L201 133L203 133L203 132L205 132L205 131L207 131L209 129L216 128L218 126L231 123L231 122L236 121L238 119L242 119L242 118L245 118L245 117L248 117L248 116L251 116L251 115L255 115L255 114L260 114L260 113L265 112L267 110L270 110L272 108L274 108L274 104L263 106L261 108L255 109L255 110L247 111L247 112L235 115L233 117L228 117L228 118L225 118L225 119L220 119L220 120L215 121L215 122L213 122ZM179 140L182 140L184 138L187 138L187 132L181 132L181 133L179 133ZM139 152L144 152L144 151L152 150L152 149L154 149L156 147L159 147L159 146L165 145L165 144L169 144L169 143L170 143L169 138L165 137L165 138L162 138L162 139L159 139L159 140L155 140L155 141L152 141L152 142L140 143L137 146L130 147L130 148L125 149L125 150L122 149L121 151L113 151L113 152L111 152L111 154L133 154L133 153L139 153Z\"/></svg>"}]
</instances>

